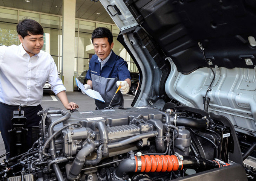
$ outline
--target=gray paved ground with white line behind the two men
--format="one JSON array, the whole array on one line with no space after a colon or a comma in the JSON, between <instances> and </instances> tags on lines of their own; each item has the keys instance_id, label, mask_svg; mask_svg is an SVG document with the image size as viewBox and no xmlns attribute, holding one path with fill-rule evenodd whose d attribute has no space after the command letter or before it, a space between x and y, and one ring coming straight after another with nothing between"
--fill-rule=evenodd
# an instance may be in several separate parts
<instances>
[{"instance_id":1,"label":"gray paved ground with white line behind the two men","mask_svg":"<svg viewBox=\"0 0 256 181\"><path fill-rule=\"evenodd\" d=\"M75 102L79 105L78 111L92 111L95 110L95 103L94 99L91 97L82 94L81 92L75 91L75 92L67 92L67 98L69 99L69 102ZM131 107L131 103L133 101L134 96L127 94L124 95L124 107ZM65 109L60 100L57 96L55 96L54 93L51 91L45 91L43 94L43 99L41 106L43 109L49 108L49 107L55 107L55 108L61 108ZM3 143L2 136L0 135L0 155L5 154L5 146ZM5 157L0 158L0 161L2 161Z\"/></svg>"}]
</instances>

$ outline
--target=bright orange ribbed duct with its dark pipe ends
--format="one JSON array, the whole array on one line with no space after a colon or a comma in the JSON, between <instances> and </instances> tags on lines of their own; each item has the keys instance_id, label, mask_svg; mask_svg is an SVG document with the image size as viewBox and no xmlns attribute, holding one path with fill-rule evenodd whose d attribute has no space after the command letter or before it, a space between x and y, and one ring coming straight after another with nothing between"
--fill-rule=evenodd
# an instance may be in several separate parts
<instances>
[{"instance_id":1,"label":"bright orange ribbed duct with its dark pipe ends","mask_svg":"<svg viewBox=\"0 0 256 181\"><path fill-rule=\"evenodd\" d=\"M224 164L225 166L228 165ZM129 172L171 172L182 169L204 171L221 167L221 165L222 161L210 161L192 156L144 155L125 159L113 173L116 179L123 179L127 177Z\"/></svg>"}]
</instances>

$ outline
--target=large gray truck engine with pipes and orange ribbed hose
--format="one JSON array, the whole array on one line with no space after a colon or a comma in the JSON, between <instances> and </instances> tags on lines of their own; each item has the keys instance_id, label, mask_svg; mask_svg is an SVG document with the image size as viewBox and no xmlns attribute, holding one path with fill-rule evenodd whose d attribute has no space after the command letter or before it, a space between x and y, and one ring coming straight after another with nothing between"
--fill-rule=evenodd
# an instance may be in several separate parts
<instances>
[{"instance_id":1,"label":"large gray truck engine with pipes and orange ribbed hose","mask_svg":"<svg viewBox=\"0 0 256 181\"><path fill-rule=\"evenodd\" d=\"M232 124L206 111L167 103L38 115L40 138L1 163L2 180L247 179Z\"/></svg>"}]
</instances>

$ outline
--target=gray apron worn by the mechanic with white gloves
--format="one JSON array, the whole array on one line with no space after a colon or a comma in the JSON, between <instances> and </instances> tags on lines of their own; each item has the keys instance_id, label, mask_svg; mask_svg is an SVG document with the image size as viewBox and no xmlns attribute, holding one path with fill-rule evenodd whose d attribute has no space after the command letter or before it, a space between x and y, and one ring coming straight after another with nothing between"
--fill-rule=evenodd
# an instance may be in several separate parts
<instances>
[{"instance_id":1,"label":"gray apron worn by the mechanic with white gloves","mask_svg":"<svg viewBox=\"0 0 256 181\"><path fill-rule=\"evenodd\" d=\"M99 110L103 110L104 108L109 106L115 92L117 91L118 78L104 78L98 75L91 74L92 78L92 88L95 91L98 91L101 97L105 100L101 102L100 100L95 99L95 105ZM124 97L120 91L115 95L114 99L111 102L112 107L123 107L124 106Z\"/></svg>"}]
</instances>

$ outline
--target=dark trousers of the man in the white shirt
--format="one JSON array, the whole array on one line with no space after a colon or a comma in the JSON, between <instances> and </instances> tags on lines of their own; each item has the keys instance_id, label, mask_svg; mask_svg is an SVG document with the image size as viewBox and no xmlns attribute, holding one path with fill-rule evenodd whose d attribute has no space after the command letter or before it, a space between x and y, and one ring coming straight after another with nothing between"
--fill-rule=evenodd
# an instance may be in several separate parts
<instances>
[{"instance_id":1,"label":"dark trousers of the man in the white shirt","mask_svg":"<svg viewBox=\"0 0 256 181\"><path fill-rule=\"evenodd\" d=\"M12 129L12 112L18 110L19 106L11 106L0 102L0 131L5 143L6 153L10 151L10 134ZM28 135L26 136L26 148L31 148L32 143L32 126L38 126L41 116L37 116L38 111L43 110L41 105L21 107L25 111L27 119L26 128L28 128ZM7 155L8 158L8 155Z\"/></svg>"}]
</instances>

